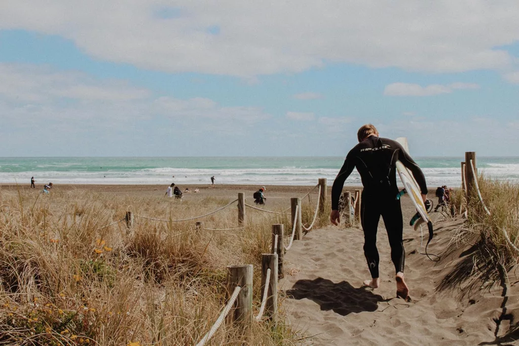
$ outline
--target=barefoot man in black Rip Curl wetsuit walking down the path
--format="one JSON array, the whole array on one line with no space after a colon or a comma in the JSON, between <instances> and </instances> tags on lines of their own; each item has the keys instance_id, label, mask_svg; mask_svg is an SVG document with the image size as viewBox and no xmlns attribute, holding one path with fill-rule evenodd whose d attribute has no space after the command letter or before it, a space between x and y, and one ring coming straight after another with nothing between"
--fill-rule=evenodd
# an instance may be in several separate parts
<instances>
[{"instance_id":1,"label":"barefoot man in black Rip Curl wetsuit walking down the path","mask_svg":"<svg viewBox=\"0 0 519 346\"><path fill-rule=\"evenodd\" d=\"M391 260L396 271L397 297L409 299L409 288L404 281L405 251L402 242L403 222L400 199L396 196L397 187L396 162L402 162L411 170L418 183L422 199L427 200L427 185L424 173L402 146L392 140L380 138L372 124L362 126L357 138L359 144L350 150L343 168L335 178L332 187L332 212L330 219L334 225L339 222L338 204L344 182L357 168L364 189L362 190L361 223L364 230L364 255L370 269L372 280L364 281L364 285L378 288L377 226L380 216L384 220L391 246Z\"/></svg>"}]
</instances>

